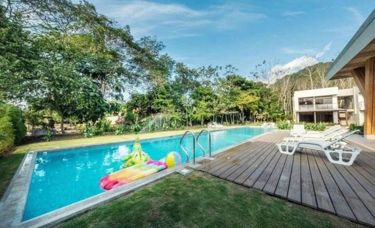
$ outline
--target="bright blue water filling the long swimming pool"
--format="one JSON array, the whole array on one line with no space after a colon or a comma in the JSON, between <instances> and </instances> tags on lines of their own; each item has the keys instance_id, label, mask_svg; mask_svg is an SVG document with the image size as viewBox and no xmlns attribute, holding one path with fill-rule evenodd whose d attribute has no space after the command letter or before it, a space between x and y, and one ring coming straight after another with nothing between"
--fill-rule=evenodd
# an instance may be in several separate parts
<instances>
[{"instance_id":1,"label":"bright blue water filling the long swimming pool","mask_svg":"<svg viewBox=\"0 0 375 228\"><path fill-rule=\"evenodd\" d=\"M264 132L261 127L240 127L211 132L212 152L238 144ZM153 160L164 158L170 151L183 154L179 142L181 136L142 140L143 150ZM199 142L208 153L208 135L203 134ZM121 169L122 158L132 149L132 142L96 145L53 152L39 152L32 174L23 221L44 213L81 201L104 192L99 181L109 173ZM192 137L184 139L184 147L192 159ZM119 146L122 147L119 150ZM196 157L202 156L196 146Z\"/></svg>"}]
</instances>

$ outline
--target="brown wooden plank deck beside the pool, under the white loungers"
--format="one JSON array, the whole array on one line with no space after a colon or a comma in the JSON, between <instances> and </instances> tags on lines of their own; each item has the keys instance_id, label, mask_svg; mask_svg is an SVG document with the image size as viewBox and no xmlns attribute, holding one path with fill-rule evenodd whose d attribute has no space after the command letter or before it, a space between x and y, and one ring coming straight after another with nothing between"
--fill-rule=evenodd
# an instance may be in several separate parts
<instances>
[{"instance_id":1,"label":"brown wooden plank deck beside the pool, under the white loungers","mask_svg":"<svg viewBox=\"0 0 375 228\"><path fill-rule=\"evenodd\" d=\"M278 152L287 131L273 131L200 162L199 169L294 203L375 227L375 153L364 152L353 166L334 165L325 154Z\"/></svg>"}]
</instances>

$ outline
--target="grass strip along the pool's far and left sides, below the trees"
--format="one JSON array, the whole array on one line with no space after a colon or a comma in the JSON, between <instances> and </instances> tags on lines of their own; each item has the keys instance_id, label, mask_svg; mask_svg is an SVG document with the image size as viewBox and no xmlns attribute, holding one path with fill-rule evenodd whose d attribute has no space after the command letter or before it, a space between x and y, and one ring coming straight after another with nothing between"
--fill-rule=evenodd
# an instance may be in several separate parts
<instances>
[{"instance_id":1,"label":"grass strip along the pool's far and left sides, below the trees","mask_svg":"<svg viewBox=\"0 0 375 228\"><path fill-rule=\"evenodd\" d=\"M193 132L199 132L201 128L192 129ZM139 134L140 139L171 136L183 134L185 130L176 131L164 131L164 132L154 132ZM18 166L20 165L23 156L27 151L37 150L37 149L49 149L62 146L78 146L78 145L91 145L91 144L105 144L114 143L124 140L134 140L135 134L127 135L107 135L107 136L97 136L89 139L71 139L71 140L61 140L61 141L51 141L42 143L33 143L27 145L17 146L15 150L4 156L0 156L0 198L4 194L6 188L8 187L14 173L16 172Z\"/></svg>"}]
</instances>

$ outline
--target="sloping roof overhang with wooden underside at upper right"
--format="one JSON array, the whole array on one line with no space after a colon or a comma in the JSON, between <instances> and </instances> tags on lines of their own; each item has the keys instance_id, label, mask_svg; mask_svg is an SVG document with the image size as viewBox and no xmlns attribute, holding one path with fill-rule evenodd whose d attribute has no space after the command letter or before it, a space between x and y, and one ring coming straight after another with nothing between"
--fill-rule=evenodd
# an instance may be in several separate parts
<instances>
[{"instance_id":1,"label":"sloping roof overhang with wooden underside at upper right","mask_svg":"<svg viewBox=\"0 0 375 228\"><path fill-rule=\"evenodd\" d=\"M375 9L359 27L353 38L328 68L328 79L352 77L351 71L364 67L367 59L375 57Z\"/></svg>"}]
</instances>

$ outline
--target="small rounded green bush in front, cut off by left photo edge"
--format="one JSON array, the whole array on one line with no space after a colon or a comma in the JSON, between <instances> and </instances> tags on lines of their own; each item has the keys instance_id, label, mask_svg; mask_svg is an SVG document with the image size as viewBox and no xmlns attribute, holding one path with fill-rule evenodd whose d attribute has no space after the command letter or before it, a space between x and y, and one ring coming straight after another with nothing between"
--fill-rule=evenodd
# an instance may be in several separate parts
<instances>
[{"instance_id":1,"label":"small rounded green bush in front, cut off by left photo edge","mask_svg":"<svg viewBox=\"0 0 375 228\"><path fill-rule=\"evenodd\" d=\"M2 154L14 145L13 125L8 116L0 118L0 135L4 137L4 139L0 139L0 154Z\"/></svg>"}]
</instances>

